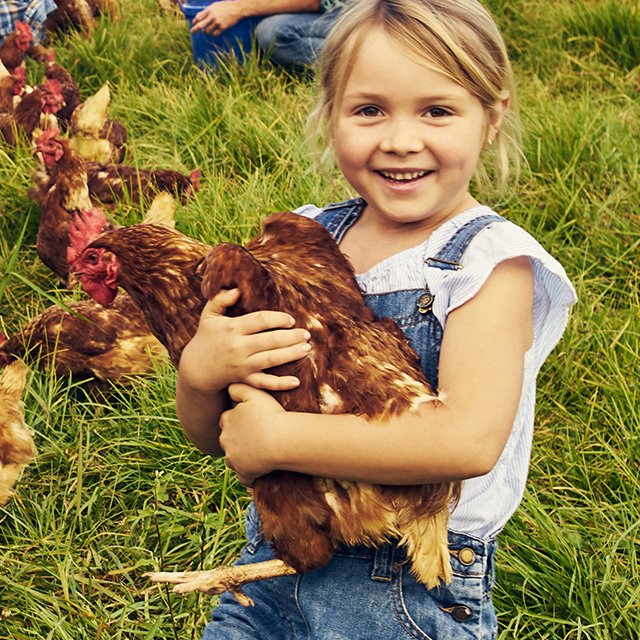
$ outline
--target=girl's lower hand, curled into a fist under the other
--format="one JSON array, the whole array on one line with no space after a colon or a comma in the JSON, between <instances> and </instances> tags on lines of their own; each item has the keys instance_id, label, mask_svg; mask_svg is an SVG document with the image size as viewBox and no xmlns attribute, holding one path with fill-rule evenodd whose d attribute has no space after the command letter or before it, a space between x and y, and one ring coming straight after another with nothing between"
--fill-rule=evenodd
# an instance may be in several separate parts
<instances>
[{"instance_id":1,"label":"girl's lower hand, curled into a fist under the other","mask_svg":"<svg viewBox=\"0 0 640 640\"><path fill-rule=\"evenodd\" d=\"M229 395L238 404L220 417L220 446L227 465L250 487L256 478L274 470L265 435L284 409L273 396L245 384L232 384Z\"/></svg>"}]
</instances>

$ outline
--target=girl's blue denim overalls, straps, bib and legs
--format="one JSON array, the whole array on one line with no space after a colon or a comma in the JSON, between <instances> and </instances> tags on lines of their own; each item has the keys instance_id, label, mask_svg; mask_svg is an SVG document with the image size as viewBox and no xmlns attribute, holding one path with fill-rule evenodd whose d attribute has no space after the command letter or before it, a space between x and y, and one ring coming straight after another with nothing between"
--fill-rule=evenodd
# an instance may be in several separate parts
<instances>
[{"instance_id":1,"label":"girl's blue denim overalls, straps, bib and legs","mask_svg":"<svg viewBox=\"0 0 640 640\"><path fill-rule=\"evenodd\" d=\"M315 219L340 242L365 202L358 198L326 207ZM429 267L461 269L469 243L496 214L479 216L458 229ZM434 389L442 327L431 311L433 295L423 289L364 294L378 315L402 328ZM247 540L239 564L273 558L260 533L253 503L247 513ZM497 620L491 601L495 540L449 531L453 580L431 590L415 580L404 551L394 543L376 549L341 546L322 569L301 576L248 584L255 606L244 608L222 594L203 640L494 640Z\"/></svg>"}]
</instances>

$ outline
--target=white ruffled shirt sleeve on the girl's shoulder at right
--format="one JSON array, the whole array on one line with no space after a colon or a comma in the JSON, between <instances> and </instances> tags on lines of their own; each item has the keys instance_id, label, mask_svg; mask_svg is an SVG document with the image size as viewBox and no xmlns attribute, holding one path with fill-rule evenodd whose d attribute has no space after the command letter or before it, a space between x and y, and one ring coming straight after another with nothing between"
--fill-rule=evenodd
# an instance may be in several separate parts
<instances>
[{"instance_id":1,"label":"white ruffled shirt sleeve on the girl's shoulder at right","mask_svg":"<svg viewBox=\"0 0 640 640\"><path fill-rule=\"evenodd\" d=\"M542 365L567 325L576 292L562 265L524 229L505 221L493 224L474 238L462 258L459 271L426 267L433 312L442 326L458 307L475 296L500 262L526 256L534 276L534 361Z\"/></svg>"}]
</instances>

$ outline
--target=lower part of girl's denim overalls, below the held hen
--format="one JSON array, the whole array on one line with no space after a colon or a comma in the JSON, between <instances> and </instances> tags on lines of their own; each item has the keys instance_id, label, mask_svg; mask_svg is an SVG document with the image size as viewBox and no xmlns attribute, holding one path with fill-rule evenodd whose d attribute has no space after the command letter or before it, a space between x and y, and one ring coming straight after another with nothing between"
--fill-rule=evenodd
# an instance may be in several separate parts
<instances>
[{"instance_id":1,"label":"lower part of girl's denim overalls, below the held hen","mask_svg":"<svg viewBox=\"0 0 640 640\"><path fill-rule=\"evenodd\" d=\"M239 564L273 558L253 505ZM326 567L246 585L255 605L223 593L202 640L495 640L497 543L449 533L450 585L416 582L402 549L340 548Z\"/></svg>"}]
</instances>

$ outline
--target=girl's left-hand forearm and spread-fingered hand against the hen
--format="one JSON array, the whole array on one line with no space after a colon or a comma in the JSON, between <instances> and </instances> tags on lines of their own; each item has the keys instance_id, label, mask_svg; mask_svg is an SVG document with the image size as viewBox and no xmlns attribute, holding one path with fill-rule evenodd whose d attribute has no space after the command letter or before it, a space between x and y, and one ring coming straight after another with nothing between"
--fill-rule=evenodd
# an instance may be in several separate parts
<instances>
[{"instance_id":1,"label":"girl's left-hand forearm and spread-fingered hand against the hen","mask_svg":"<svg viewBox=\"0 0 640 640\"><path fill-rule=\"evenodd\" d=\"M189 439L204 453L220 456L220 414L231 405L226 388L245 382L260 389L293 389L293 376L272 376L263 369L304 357L309 332L292 329L294 319L277 311L238 318L224 315L239 297L223 290L202 311L198 330L180 358L176 411Z\"/></svg>"}]
</instances>

